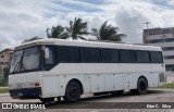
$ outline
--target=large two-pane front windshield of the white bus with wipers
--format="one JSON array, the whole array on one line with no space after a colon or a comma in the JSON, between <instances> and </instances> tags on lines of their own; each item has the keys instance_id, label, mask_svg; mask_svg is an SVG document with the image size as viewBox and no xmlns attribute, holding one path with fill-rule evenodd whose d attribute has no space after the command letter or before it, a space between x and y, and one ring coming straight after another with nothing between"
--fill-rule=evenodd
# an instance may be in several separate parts
<instances>
[{"instance_id":1,"label":"large two-pane front windshield of the white bus with wipers","mask_svg":"<svg viewBox=\"0 0 174 112\"><path fill-rule=\"evenodd\" d=\"M14 52L10 73L26 72L39 67L40 48L29 47Z\"/></svg>"}]
</instances>

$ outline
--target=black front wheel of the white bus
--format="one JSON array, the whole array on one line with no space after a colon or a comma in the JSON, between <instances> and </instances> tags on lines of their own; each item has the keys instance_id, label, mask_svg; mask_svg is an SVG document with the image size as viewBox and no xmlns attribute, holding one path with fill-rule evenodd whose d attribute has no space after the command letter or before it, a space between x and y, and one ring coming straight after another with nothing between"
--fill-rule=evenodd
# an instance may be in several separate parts
<instances>
[{"instance_id":1,"label":"black front wheel of the white bus","mask_svg":"<svg viewBox=\"0 0 174 112\"><path fill-rule=\"evenodd\" d=\"M65 89L65 96L63 97L64 101L77 102L80 99L80 86L77 82L70 82Z\"/></svg>"}]
</instances>

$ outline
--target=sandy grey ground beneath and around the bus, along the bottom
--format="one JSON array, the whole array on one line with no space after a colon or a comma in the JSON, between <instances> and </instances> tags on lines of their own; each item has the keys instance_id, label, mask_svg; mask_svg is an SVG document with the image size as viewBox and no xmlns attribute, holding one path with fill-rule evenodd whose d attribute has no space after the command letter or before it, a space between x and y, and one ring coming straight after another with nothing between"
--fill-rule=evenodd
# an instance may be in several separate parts
<instances>
[{"instance_id":1,"label":"sandy grey ground beneath and around the bus, along the bottom","mask_svg":"<svg viewBox=\"0 0 174 112\"><path fill-rule=\"evenodd\" d=\"M121 96L100 96L94 97L91 95L82 96L82 100L77 103L67 104L63 101L59 103L47 104L46 110L21 110L21 111L35 111L35 112L174 112L174 109L146 109L144 105L148 104L167 104L173 102L174 107L174 89L150 89L147 95L132 95L125 92ZM12 99L9 94L0 94L0 102L27 102L38 103L40 101L35 100L18 100ZM124 103L127 102L127 103ZM145 103L146 102L146 103ZM116 109L115 104L121 104L125 109ZM171 104L171 103L170 103ZM127 107L128 105L128 107ZM132 109L142 105L144 109ZM161 105L160 105L161 107ZM4 110L2 110L4 111ZM13 110L15 111L15 110ZM16 110L17 111L17 110Z\"/></svg>"}]
</instances>

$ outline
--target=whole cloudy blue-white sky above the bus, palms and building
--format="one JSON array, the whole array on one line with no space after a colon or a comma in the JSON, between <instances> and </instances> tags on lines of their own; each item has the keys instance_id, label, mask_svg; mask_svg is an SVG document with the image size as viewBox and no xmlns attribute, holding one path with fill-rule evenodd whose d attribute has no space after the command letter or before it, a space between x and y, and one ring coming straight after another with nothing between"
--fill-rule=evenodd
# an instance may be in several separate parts
<instances>
[{"instance_id":1,"label":"whole cloudy blue-white sky above the bus, palms and building","mask_svg":"<svg viewBox=\"0 0 174 112\"><path fill-rule=\"evenodd\" d=\"M91 27L108 21L127 35L125 42L141 43L145 22L174 27L174 0L0 0L0 50L27 38L46 38L46 28L67 26L82 17Z\"/></svg>"}]
</instances>

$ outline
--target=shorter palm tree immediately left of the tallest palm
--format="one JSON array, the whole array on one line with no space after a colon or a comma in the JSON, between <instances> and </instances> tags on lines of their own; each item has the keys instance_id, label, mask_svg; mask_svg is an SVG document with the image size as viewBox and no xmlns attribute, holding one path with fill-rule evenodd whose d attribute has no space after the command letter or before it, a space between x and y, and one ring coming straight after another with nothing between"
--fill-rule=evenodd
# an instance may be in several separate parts
<instances>
[{"instance_id":1,"label":"shorter palm tree immediately left of the tallest palm","mask_svg":"<svg viewBox=\"0 0 174 112\"><path fill-rule=\"evenodd\" d=\"M60 39L66 39L69 38L69 34L65 32L65 28L61 25L58 25L57 27L52 26L51 33L49 33L50 28L47 28L47 37L48 38L60 38Z\"/></svg>"}]
</instances>

